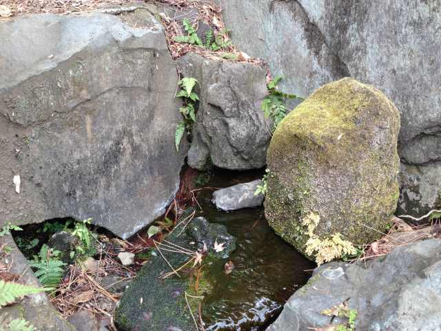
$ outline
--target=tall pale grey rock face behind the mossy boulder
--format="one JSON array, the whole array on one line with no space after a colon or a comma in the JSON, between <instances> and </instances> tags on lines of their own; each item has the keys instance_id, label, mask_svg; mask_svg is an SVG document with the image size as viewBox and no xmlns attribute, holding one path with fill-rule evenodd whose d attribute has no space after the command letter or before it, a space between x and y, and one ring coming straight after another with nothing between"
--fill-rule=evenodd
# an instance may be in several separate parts
<instances>
[{"instance_id":1,"label":"tall pale grey rock face behind the mossy boulder","mask_svg":"<svg viewBox=\"0 0 441 331\"><path fill-rule=\"evenodd\" d=\"M349 76L382 90L401 112L400 212L441 208L440 181L431 180L441 167L440 1L218 3L234 43L283 75L282 90L306 97Z\"/></svg>"}]
</instances>

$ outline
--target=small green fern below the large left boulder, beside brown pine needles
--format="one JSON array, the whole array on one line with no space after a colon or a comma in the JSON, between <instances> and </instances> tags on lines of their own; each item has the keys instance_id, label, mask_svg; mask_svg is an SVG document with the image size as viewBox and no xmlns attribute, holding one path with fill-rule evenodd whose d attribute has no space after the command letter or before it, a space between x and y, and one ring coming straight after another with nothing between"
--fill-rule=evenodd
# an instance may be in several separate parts
<instances>
[{"instance_id":1,"label":"small green fern below the large left boulder, beside brown pine needles","mask_svg":"<svg viewBox=\"0 0 441 331\"><path fill-rule=\"evenodd\" d=\"M57 259L59 254L59 251L48 248L48 245L44 244L41 246L38 256L30 262L30 266L36 270L35 276L42 285L50 288L59 285L64 274L63 267L66 265L63 261Z\"/></svg>"}]
</instances>

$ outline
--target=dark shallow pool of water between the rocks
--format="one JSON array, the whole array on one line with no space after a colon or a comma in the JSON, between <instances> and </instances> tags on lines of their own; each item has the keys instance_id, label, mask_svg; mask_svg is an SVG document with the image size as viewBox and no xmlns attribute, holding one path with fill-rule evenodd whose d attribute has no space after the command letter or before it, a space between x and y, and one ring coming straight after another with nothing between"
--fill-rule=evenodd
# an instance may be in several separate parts
<instances>
[{"instance_id":1,"label":"dark shallow pool of water between the rocks","mask_svg":"<svg viewBox=\"0 0 441 331\"><path fill-rule=\"evenodd\" d=\"M223 188L253 179L256 172L239 176L238 172L215 172L208 185ZM237 238L237 250L230 257L235 265L231 274L223 272L225 260L209 268L214 290L203 301L205 328L265 330L291 294L307 282L316 265L274 233L263 208L223 212L211 199L211 190L199 194L198 203L203 210L198 216L226 225Z\"/></svg>"}]
</instances>

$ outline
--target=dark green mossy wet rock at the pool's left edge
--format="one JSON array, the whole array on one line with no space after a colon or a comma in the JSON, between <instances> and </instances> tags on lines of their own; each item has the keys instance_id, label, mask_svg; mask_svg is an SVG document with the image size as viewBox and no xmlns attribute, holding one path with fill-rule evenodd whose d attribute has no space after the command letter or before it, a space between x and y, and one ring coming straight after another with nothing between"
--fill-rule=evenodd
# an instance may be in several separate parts
<instances>
[{"instance_id":1,"label":"dark green mossy wet rock at the pool's left edge","mask_svg":"<svg viewBox=\"0 0 441 331\"><path fill-rule=\"evenodd\" d=\"M196 268L192 268L193 263L183 268L180 271L181 277L177 277L168 263L176 270L189 260L189 255L185 252L170 252L170 247L177 248L178 245L194 252L205 243L209 250L208 258L216 260L216 254L224 257L236 248L236 239L227 233L225 225L207 223L202 217L191 221L187 230L182 233L181 230L181 227L174 229L164 242L169 247L163 247L159 252L156 250L156 254L152 254L130 287L125 290L114 314L119 330L196 330L188 305L197 315L201 298L192 297L206 295L211 291L212 285L207 281L206 268L198 272ZM214 242L223 243L225 240L225 250L215 252ZM165 278L167 273L170 275Z\"/></svg>"}]
</instances>

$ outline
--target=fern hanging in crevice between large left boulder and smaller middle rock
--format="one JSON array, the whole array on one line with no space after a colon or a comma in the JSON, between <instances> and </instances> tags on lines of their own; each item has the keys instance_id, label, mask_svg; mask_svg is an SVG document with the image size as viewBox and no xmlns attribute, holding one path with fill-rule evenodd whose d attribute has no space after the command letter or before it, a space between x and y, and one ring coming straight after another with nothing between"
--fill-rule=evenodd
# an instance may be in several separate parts
<instances>
[{"instance_id":1,"label":"fern hanging in crevice between large left boulder and smaller middle rock","mask_svg":"<svg viewBox=\"0 0 441 331\"><path fill-rule=\"evenodd\" d=\"M198 94L194 92L194 88L197 83L198 81L193 77L184 77L179 81L181 91L176 94L176 97L183 98L184 106L179 108L179 112L181 112L183 116L183 121L178 123L174 134L176 151L179 151L179 144L181 143L185 130L191 132L193 123L196 122L196 102L199 101L199 97Z\"/></svg>"}]
</instances>

